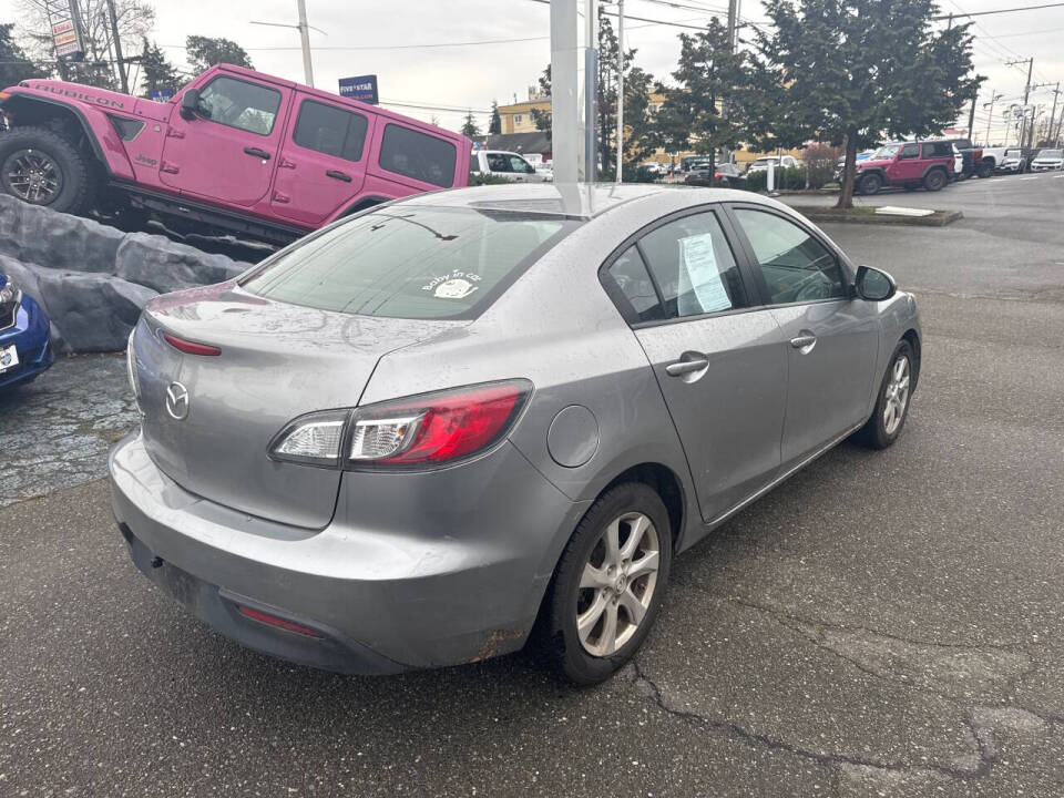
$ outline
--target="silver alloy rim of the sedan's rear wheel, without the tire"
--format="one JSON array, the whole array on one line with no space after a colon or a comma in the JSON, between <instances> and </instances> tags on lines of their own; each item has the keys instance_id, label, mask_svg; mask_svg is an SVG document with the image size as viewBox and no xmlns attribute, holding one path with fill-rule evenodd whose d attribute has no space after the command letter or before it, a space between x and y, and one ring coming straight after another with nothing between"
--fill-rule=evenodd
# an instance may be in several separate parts
<instances>
[{"instance_id":1,"label":"silver alloy rim of the sedan's rear wheel, without the tire","mask_svg":"<svg viewBox=\"0 0 1064 798\"><path fill-rule=\"evenodd\" d=\"M657 530L643 513L606 525L580 577L576 634L584 651L608 656L632 638L654 598L659 559Z\"/></svg>"}]
</instances>

